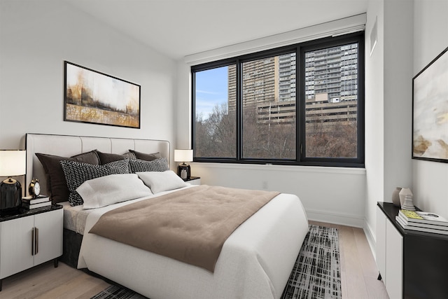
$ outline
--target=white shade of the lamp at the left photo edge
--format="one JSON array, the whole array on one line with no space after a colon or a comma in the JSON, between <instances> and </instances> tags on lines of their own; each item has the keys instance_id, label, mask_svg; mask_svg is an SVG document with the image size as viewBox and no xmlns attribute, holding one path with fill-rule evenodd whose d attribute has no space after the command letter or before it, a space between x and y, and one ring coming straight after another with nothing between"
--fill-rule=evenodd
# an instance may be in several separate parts
<instances>
[{"instance_id":1,"label":"white shade of the lamp at the left photo edge","mask_svg":"<svg viewBox=\"0 0 448 299\"><path fill-rule=\"evenodd\" d=\"M27 173L27 151L0 150L0 176L21 176Z\"/></svg>"}]
</instances>

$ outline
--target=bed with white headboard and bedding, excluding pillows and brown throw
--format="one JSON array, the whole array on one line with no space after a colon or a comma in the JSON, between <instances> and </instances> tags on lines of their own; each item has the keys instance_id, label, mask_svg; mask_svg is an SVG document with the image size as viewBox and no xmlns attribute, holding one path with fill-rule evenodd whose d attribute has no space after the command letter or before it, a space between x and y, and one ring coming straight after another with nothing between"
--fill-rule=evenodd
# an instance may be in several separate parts
<instances>
[{"instance_id":1,"label":"bed with white headboard and bedding, excluding pillows and brown throw","mask_svg":"<svg viewBox=\"0 0 448 299\"><path fill-rule=\"evenodd\" d=\"M37 177L44 194L49 194L47 174L35 153L71 157L94 150L117 155L133 150L160 153L170 160L168 141L48 134L27 134L25 139L26 183ZM96 209L72 207L59 199L64 206L62 262L87 268L151 299L280 298L308 232L307 216L295 195L276 195L241 223L225 240L213 271L88 233L102 215L118 207L196 187L164 190Z\"/></svg>"}]
</instances>

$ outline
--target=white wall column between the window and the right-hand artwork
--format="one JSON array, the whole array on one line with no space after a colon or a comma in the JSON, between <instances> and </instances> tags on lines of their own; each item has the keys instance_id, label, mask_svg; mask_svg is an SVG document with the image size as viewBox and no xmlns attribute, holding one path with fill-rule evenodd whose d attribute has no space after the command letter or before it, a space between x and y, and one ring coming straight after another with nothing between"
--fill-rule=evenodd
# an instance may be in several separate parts
<instances>
[{"instance_id":1,"label":"white wall column between the window and the right-hand artwork","mask_svg":"<svg viewBox=\"0 0 448 299\"><path fill-rule=\"evenodd\" d=\"M412 183L413 1L372 0L366 26L366 235L373 247L377 202L391 202L395 187ZM377 20L377 46L370 32Z\"/></svg>"}]
</instances>

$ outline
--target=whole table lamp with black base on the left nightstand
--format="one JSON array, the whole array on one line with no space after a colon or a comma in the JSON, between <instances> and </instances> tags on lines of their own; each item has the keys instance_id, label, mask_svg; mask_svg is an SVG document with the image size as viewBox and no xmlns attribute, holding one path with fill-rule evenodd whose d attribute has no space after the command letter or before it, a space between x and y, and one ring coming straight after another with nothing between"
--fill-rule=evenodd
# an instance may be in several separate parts
<instances>
[{"instance_id":1,"label":"whole table lamp with black base on the left nightstand","mask_svg":"<svg viewBox=\"0 0 448 299\"><path fill-rule=\"evenodd\" d=\"M27 151L0 150L0 176L8 176L0 182L0 214L18 211L22 204L22 186L11 176L22 176L27 172Z\"/></svg>"}]
</instances>

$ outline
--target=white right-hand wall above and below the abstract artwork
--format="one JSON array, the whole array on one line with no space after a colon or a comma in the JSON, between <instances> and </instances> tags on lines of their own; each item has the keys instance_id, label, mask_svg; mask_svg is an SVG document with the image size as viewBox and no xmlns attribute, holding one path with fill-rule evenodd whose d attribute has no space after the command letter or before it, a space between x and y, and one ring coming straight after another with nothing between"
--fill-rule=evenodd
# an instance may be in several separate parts
<instances>
[{"instance_id":1,"label":"white right-hand wall above and below the abstract artwork","mask_svg":"<svg viewBox=\"0 0 448 299\"><path fill-rule=\"evenodd\" d=\"M447 16L448 1L415 0L413 76L447 48ZM414 203L448 218L448 164L412 160L412 177Z\"/></svg>"}]
</instances>

